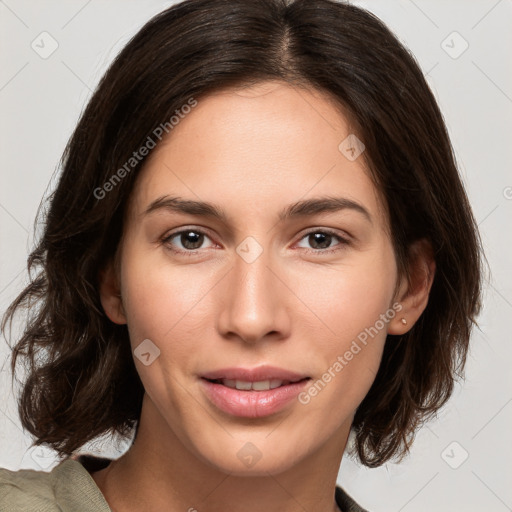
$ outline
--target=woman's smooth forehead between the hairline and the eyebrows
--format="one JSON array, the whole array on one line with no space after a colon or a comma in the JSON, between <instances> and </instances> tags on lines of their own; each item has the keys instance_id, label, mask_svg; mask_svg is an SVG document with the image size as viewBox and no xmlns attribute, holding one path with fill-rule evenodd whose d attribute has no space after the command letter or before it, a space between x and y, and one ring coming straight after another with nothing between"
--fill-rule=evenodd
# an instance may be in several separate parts
<instances>
[{"instance_id":1,"label":"woman's smooth forehead between the hairline and the eyebrows","mask_svg":"<svg viewBox=\"0 0 512 512\"><path fill-rule=\"evenodd\" d=\"M197 101L146 160L135 211L172 194L261 217L300 199L342 195L385 224L364 153L351 160L343 152L355 130L326 94L269 81Z\"/></svg>"}]
</instances>

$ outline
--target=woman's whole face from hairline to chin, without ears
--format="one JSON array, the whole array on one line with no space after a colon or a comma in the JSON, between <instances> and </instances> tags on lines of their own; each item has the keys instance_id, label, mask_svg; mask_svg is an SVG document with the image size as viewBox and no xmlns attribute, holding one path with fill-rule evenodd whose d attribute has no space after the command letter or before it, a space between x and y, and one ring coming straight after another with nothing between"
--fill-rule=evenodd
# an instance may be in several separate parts
<instances>
[{"instance_id":1,"label":"woman's whole face from hairline to chin, without ears","mask_svg":"<svg viewBox=\"0 0 512 512\"><path fill-rule=\"evenodd\" d=\"M160 446L235 474L343 450L397 311L387 219L351 133L318 91L266 82L201 99L153 150L120 278ZM275 372L238 387L309 380L232 389L262 366Z\"/></svg>"}]
</instances>

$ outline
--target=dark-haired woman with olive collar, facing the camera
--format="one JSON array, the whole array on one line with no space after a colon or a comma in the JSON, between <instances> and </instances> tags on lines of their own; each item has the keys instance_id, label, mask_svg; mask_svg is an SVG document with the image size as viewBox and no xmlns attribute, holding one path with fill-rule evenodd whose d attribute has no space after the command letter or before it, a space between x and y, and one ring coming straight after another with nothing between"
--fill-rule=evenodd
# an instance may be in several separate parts
<instances>
[{"instance_id":1,"label":"dark-haired woman with olive collar, facing the camera","mask_svg":"<svg viewBox=\"0 0 512 512\"><path fill-rule=\"evenodd\" d=\"M349 434L376 467L446 403L480 261L442 115L375 16L167 9L84 111L4 317L29 308L20 415L63 460L0 470L2 503L363 510L336 486Z\"/></svg>"}]
</instances>

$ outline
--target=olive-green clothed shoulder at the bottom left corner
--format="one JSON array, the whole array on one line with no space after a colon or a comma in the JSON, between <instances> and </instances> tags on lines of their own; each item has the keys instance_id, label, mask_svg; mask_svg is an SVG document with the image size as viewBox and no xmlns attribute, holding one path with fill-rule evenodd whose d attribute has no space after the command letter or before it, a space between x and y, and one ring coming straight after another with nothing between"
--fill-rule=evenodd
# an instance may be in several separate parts
<instances>
[{"instance_id":1,"label":"olive-green clothed shoulder at the bottom left corner","mask_svg":"<svg viewBox=\"0 0 512 512\"><path fill-rule=\"evenodd\" d=\"M80 462L66 459L51 471L0 468L0 512L111 512Z\"/></svg>"}]
</instances>

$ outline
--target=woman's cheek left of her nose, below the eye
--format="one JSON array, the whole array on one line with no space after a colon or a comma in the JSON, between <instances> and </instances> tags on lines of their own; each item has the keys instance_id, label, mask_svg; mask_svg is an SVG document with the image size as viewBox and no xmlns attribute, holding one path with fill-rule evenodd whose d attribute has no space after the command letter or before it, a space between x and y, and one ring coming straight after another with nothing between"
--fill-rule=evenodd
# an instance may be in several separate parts
<instances>
[{"instance_id":1,"label":"woman's cheek left of her nose, below the eye","mask_svg":"<svg viewBox=\"0 0 512 512\"><path fill-rule=\"evenodd\" d=\"M197 370L195 359L205 347L204 322L211 319L204 301L211 284L198 269L172 267L142 252L127 251L121 276L137 371L146 393L174 424L187 415L189 400L183 396L183 383ZM159 350L147 366L137 359L141 352L137 347L146 339Z\"/></svg>"}]
</instances>

